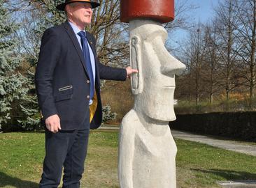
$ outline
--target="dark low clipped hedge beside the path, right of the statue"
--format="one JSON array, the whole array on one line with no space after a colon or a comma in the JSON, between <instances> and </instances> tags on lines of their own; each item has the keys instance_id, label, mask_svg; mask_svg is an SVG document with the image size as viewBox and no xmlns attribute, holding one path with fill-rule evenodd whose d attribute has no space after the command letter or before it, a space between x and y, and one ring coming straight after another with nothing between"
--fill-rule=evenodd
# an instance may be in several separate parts
<instances>
[{"instance_id":1,"label":"dark low clipped hedge beside the path, right of the statue","mask_svg":"<svg viewBox=\"0 0 256 188\"><path fill-rule=\"evenodd\" d=\"M256 141L256 112L178 114L171 129Z\"/></svg>"}]
</instances>

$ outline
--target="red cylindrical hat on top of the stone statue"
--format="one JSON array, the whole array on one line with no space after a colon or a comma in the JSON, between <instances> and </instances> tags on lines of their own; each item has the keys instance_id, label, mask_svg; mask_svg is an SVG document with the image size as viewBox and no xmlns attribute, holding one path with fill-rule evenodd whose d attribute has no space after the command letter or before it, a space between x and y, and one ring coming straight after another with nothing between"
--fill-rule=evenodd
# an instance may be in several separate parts
<instances>
[{"instance_id":1,"label":"red cylindrical hat on top of the stone statue","mask_svg":"<svg viewBox=\"0 0 256 188\"><path fill-rule=\"evenodd\" d=\"M131 19L155 19L166 23L174 19L174 0L121 0L121 22Z\"/></svg>"}]
</instances>

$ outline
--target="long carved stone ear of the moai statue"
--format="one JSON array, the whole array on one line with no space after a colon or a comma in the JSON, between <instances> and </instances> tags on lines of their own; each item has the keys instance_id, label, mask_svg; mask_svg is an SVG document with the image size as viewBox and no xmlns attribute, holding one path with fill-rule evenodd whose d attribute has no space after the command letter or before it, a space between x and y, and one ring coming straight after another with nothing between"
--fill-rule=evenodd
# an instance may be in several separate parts
<instances>
[{"instance_id":1,"label":"long carved stone ear of the moai statue","mask_svg":"<svg viewBox=\"0 0 256 188\"><path fill-rule=\"evenodd\" d=\"M131 92L138 95L143 91L142 69L141 69L141 40L138 36L133 36L130 40L130 65L138 70L131 76Z\"/></svg>"}]
</instances>

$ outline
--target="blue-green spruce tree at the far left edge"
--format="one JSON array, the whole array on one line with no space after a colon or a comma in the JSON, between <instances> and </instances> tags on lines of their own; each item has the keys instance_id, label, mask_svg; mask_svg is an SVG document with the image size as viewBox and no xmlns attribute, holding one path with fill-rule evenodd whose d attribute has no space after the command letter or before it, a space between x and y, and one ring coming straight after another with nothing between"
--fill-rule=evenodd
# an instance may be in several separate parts
<instances>
[{"instance_id":1,"label":"blue-green spruce tree at the far left edge","mask_svg":"<svg viewBox=\"0 0 256 188\"><path fill-rule=\"evenodd\" d=\"M0 129L10 123L13 104L27 93L23 87L27 79L17 71L20 58L15 54L17 40L13 34L18 26L10 20L6 0L0 0Z\"/></svg>"}]
</instances>

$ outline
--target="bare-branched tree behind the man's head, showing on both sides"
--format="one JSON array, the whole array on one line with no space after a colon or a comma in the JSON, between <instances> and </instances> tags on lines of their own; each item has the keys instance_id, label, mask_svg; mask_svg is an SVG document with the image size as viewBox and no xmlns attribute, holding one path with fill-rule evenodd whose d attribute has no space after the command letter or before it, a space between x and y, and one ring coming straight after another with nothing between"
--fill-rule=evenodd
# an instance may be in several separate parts
<instances>
[{"instance_id":1,"label":"bare-branched tree behind the man's head, showing on both sides","mask_svg":"<svg viewBox=\"0 0 256 188\"><path fill-rule=\"evenodd\" d=\"M30 11L36 11L33 14L34 33L41 38L43 31L50 26L56 26L66 21L66 15L55 8L62 1L45 0L23 0L30 6ZM87 31L93 33L97 40L97 52L101 63L105 65L114 65L123 67L129 59L129 42L125 40L128 36L127 24L118 22L120 15L120 1L118 0L100 0L101 6L94 9L92 24L87 26ZM39 16L38 16L39 15ZM31 22L30 22L31 23ZM37 38L37 42L38 42ZM40 42L40 40L39 40Z\"/></svg>"}]
</instances>

